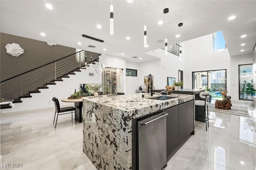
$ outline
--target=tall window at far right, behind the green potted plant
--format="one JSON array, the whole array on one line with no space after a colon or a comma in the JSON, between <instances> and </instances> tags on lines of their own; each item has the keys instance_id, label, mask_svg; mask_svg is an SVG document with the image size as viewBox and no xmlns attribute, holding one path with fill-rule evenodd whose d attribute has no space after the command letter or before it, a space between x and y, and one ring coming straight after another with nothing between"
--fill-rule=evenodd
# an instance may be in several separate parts
<instances>
[{"instance_id":1,"label":"tall window at far right, behind the green potted plant","mask_svg":"<svg viewBox=\"0 0 256 170\"><path fill-rule=\"evenodd\" d=\"M251 83L253 79L252 75L252 64L244 64L238 65L239 69L239 100L252 100L252 96L250 94L244 94L242 91L244 87L244 81L246 83Z\"/></svg>"}]
</instances>

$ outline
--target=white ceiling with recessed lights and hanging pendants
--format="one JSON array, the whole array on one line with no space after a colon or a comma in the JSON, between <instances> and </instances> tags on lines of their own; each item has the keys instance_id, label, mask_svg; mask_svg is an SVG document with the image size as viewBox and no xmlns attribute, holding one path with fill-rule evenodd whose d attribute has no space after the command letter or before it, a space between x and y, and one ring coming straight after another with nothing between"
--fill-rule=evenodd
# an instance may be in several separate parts
<instances>
[{"instance_id":1,"label":"white ceiling with recessed lights and hanging pendants","mask_svg":"<svg viewBox=\"0 0 256 170\"><path fill-rule=\"evenodd\" d=\"M52 4L54 9L47 9L44 3ZM156 59L145 52L164 46L164 42L156 41L165 39L166 18L169 45L218 31L223 32L230 56L252 53L256 43L256 0L146 0L149 47L143 45L144 0L132 3L113 0L114 35L110 35L110 4L111 0L1 0L0 31L88 51L91 48L87 46L94 45L94 52L135 62ZM169 8L168 14L163 13L164 8ZM237 18L227 20L231 15ZM164 24L158 25L159 20ZM182 27L178 27L180 22ZM97 24L102 28L96 28ZM46 36L40 36L40 32ZM179 33L181 38L176 38ZM82 34L104 43L84 38ZM247 37L242 39L243 34ZM130 40L126 40L127 36ZM241 47L241 43L246 45Z\"/></svg>"}]
</instances>

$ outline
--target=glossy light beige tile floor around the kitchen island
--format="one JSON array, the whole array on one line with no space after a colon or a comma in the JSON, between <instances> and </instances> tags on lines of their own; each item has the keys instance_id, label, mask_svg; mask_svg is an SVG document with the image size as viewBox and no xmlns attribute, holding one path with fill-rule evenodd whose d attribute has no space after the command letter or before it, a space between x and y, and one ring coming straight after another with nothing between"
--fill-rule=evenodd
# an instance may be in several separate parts
<instances>
[{"instance_id":1,"label":"glossy light beige tile floor around the kitchen island","mask_svg":"<svg viewBox=\"0 0 256 170\"><path fill-rule=\"evenodd\" d=\"M196 134L165 170L256 170L256 113L250 112L249 118L210 112L207 132L205 124L196 121ZM3 110L0 169L95 170L82 151L82 123L72 125L70 114L61 115L55 129L53 117L54 108L6 114ZM8 163L11 167L5 167Z\"/></svg>"}]
</instances>

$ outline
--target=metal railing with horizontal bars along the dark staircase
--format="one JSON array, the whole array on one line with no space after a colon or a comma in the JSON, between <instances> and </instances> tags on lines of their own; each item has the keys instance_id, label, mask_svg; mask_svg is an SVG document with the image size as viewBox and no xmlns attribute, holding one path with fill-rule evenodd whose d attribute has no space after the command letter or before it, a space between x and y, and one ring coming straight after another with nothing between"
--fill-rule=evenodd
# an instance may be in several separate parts
<instances>
[{"instance_id":1,"label":"metal railing with horizontal bars along the dark staircase","mask_svg":"<svg viewBox=\"0 0 256 170\"><path fill-rule=\"evenodd\" d=\"M86 52L84 50L78 51L63 57L62 59L52 61L41 67L1 81L1 98L15 99L19 96L27 95L30 91L37 91L38 87L43 87L46 83L54 81L55 79L84 66L85 61L90 63L91 56L92 63L94 63L94 61L98 61L99 55L101 55L92 52L90 57L86 57L85 54Z\"/></svg>"}]
</instances>

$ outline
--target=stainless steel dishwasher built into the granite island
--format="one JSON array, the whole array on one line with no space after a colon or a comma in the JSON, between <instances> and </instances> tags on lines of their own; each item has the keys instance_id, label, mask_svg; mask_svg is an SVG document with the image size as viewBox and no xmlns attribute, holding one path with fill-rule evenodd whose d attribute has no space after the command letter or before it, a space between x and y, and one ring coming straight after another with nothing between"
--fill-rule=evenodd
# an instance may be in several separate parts
<instances>
[{"instance_id":1,"label":"stainless steel dishwasher built into the granite island","mask_svg":"<svg viewBox=\"0 0 256 170\"><path fill-rule=\"evenodd\" d=\"M166 111L137 120L139 170L166 167Z\"/></svg>"}]
</instances>

